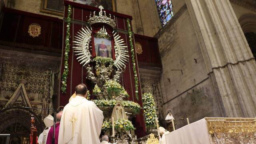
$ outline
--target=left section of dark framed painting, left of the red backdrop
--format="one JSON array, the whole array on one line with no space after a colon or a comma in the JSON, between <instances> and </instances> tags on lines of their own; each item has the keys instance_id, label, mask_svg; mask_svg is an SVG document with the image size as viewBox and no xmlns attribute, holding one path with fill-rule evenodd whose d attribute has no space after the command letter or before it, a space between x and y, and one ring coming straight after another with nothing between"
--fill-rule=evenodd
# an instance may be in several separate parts
<instances>
[{"instance_id":1,"label":"left section of dark framed painting, left of the red backdrop","mask_svg":"<svg viewBox=\"0 0 256 144\"><path fill-rule=\"evenodd\" d=\"M64 0L42 0L40 12L63 16Z\"/></svg>"}]
</instances>

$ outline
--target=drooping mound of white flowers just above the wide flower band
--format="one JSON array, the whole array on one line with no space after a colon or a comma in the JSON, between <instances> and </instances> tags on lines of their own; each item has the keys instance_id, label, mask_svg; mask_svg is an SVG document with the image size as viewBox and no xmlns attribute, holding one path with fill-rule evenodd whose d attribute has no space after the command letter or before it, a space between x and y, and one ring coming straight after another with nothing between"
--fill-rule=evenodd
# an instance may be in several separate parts
<instances>
[{"instance_id":1,"label":"drooping mound of white flowers just above the wide flower band","mask_svg":"<svg viewBox=\"0 0 256 144\"><path fill-rule=\"evenodd\" d=\"M107 88L108 96L119 96L120 94L129 97L127 92L124 90L124 87L121 86L118 82L114 80L108 80L105 82L103 87Z\"/></svg>"}]
</instances>

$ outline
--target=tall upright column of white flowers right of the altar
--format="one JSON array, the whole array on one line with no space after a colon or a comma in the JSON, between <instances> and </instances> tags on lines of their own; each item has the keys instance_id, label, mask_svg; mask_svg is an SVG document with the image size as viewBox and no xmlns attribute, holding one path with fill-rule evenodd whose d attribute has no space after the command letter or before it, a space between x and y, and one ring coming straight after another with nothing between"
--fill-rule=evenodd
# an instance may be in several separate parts
<instances>
[{"instance_id":1,"label":"tall upright column of white flowers right of the altar","mask_svg":"<svg viewBox=\"0 0 256 144\"><path fill-rule=\"evenodd\" d=\"M147 128L156 128L156 109L154 103L154 97L150 93L145 93L142 97L143 101L143 109L144 109L144 116Z\"/></svg>"}]
</instances>

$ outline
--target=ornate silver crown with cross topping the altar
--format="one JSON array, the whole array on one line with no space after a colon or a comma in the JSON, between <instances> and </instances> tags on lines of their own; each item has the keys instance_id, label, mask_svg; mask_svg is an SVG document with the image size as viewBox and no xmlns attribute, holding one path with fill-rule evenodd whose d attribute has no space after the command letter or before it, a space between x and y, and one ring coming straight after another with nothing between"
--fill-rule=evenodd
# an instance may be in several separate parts
<instances>
[{"instance_id":1,"label":"ornate silver crown with cross topping the altar","mask_svg":"<svg viewBox=\"0 0 256 144\"><path fill-rule=\"evenodd\" d=\"M99 15L96 16L95 11L94 11L93 16L90 14L88 23L90 25L92 25L92 24L95 24L95 23L102 22L102 23L105 23L105 24L108 24L108 25L112 26L112 28L115 28L116 27L115 16L114 16L114 19L112 19L111 14L109 14L109 16L106 15L106 11L103 10L104 9L103 6L99 6L99 8L100 8Z\"/></svg>"}]
</instances>

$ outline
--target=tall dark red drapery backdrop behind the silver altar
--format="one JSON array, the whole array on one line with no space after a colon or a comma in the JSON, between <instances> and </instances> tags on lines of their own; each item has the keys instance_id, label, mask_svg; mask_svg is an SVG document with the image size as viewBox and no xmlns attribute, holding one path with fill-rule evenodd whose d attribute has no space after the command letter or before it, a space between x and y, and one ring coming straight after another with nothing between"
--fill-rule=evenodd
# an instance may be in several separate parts
<instances>
[{"instance_id":1,"label":"tall dark red drapery backdrop behind the silver altar","mask_svg":"<svg viewBox=\"0 0 256 144\"><path fill-rule=\"evenodd\" d=\"M71 16L71 26L70 26L70 52L69 52L69 74L67 79L67 89L66 94L62 94L61 91L60 97L59 97L59 104L60 106L65 106L68 103L68 99L70 96L74 93L76 85L80 83L86 84L89 90L92 90L93 84L90 83L89 80L86 80L86 69L82 68L82 65L76 60L77 56L74 55L74 51L72 49L74 36L80 30L83 26L86 25L86 16L87 18L90 16L91 13L94 11L100 11L100 9L78 4L75 2L70 2L65 0L65 13L64 13L64 21L63 21L63 48L62 48L62 66L61 66L61 75L64 70L64 48L65 48L65 38L66 38L66 18L67 18L67 9L68 5L72 6L72 16ZM134 84L134 72L132 69L132 59L131 59L131 52L130 52L130 44L129 44L129 36L127 31L127 22L126 19L129 18L132 20L131 16L127 16L124 14L119 14L116 12L110 12L106 10L107 13L116 16L116 28L118 30L118 34L121 36L122 39L126 42L128 46L128 52L130 55L129 62L126 65L126 70L122 73L121 77L121 84L124 86L125 90L130 95L129 100L132 100L134 102L138 102L142 106L142 98L141 98L141 92L140 92L140 82L139 82L139 100L136 100L135 96L135 84ZM112 33L112 32L111 32ZM112 50L114 52L114 50ZM92 52L93 53L93 52ZM95 52L94 52L95 54ZM95 55L94 55L95 56ZM112 55L113 56L113 55ZM135 58L137 59L136 55ZM137 63L137 61L136 61ZM137 66L137 72L138 72L138 63ZM137 73L139 76L139 74ZM60 82L61 85L61 82ZM146 128L145 128L145 122L144 122L144 116L143 112L141 110L140 114L136 116L132 120L134 126L136 127L136 135L138 138L146 135Z\"/></svg>"}]
</instances>

